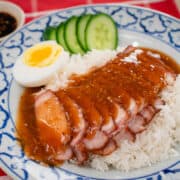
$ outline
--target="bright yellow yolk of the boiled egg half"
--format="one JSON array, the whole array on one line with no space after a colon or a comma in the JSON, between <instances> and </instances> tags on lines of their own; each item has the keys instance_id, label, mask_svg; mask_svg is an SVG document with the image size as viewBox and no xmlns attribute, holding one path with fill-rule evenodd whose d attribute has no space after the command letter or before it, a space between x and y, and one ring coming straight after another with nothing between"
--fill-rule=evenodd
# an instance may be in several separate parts
<instances>
[{"instance_id":1,"label":"bright yellow yolk of the boiled egg half","mask_svg":"<svg viewBox=\"0 0 180 180\"><path fill-rule=\"evenodd\" d=\"M61 51L61 46L57 44L38 44L26 50L23 61L33 67L49 66L58 59Z\"/></svg>"}]
</instances>

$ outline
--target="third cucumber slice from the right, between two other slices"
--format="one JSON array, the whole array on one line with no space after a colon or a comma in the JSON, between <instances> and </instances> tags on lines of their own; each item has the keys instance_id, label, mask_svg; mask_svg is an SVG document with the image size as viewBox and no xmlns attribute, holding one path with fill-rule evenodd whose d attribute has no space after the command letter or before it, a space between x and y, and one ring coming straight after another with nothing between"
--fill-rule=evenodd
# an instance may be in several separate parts
<instances>
[{"instance_id":1,"label":"third cucumber slice from the right, between two other slices","mask_svg":"<svg viewBox=\"0 0 180 180\"><path fill-rule=\"evenodd\" d=\"M84 50L78 43L78 39L77 39L77 29L76 29L77 20L78 17L73 16L65 23L65 30L64 30L65 42L67 44L68 49L72 53L83 54Z\"/></svg>"}]
</instances>

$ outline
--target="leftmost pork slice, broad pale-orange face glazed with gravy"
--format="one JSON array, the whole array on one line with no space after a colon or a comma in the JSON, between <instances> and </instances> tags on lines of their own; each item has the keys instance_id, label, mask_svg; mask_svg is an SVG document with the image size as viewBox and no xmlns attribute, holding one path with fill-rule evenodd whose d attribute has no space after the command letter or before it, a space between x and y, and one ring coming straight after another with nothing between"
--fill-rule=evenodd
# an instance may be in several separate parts
<instances>
[{"instance_id":1,"label":"leftmost pork slice, broad pale-orange face glazed with gravy","mask_svg":"<svg viewBox=\"0 0 180 180\"><path fill-rule=\"evenodd\" d=\"M43 141L51 144L54 139L59 139L60 143L67 144L71 136L70 126L64 108L54 93L48 90L36 96L35 114Z\"/></svg>"}]
</instances>

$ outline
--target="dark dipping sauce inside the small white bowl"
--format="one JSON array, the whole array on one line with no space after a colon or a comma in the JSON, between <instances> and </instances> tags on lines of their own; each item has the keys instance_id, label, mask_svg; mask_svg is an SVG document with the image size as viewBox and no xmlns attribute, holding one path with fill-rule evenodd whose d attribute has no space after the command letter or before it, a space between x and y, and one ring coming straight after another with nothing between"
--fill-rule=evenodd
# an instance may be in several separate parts
<instances>
[{"instance_id":1,"label":"dark dipping sauce inside the small white bowl","mask_svg":"<svg viewBox=\"0 0 180 180\"><path fill-rule=\"evenodd\" d=\"M12 15L0 12L0 38L13 32L16 27L17 21Z\"/></svg>"}]
</instances>

